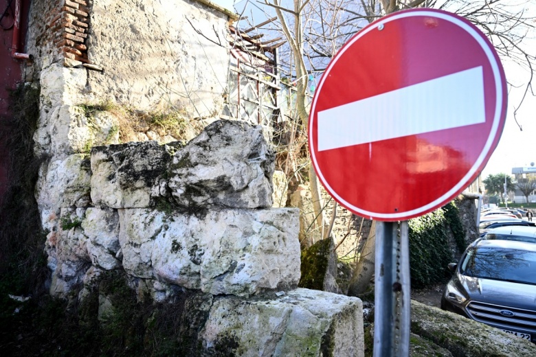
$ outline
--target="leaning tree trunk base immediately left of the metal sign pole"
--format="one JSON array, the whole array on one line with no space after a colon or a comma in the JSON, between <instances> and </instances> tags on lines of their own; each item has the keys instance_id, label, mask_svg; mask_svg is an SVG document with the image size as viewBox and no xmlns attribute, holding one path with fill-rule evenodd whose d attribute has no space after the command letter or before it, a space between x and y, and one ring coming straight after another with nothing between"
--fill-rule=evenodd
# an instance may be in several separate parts
<instances>
[{"instance_id":1,"label":"leaning tree trunk base immediately left of the metal sign pole","mask_svg":"<svg viewBox=\"0 0 536 357\"><path fill-rule=\"evenodd\" d=\"M354 269L354 275L350 280L350 287L348 288L348 296L357 296L366 292L370 279L374 275L375 264L375 251L376 251L376 221L372 221L370 226L370 232L368 233L368 239L365 242L361 256L357 262L357 266Z\"/></svg>"}]
</instances>

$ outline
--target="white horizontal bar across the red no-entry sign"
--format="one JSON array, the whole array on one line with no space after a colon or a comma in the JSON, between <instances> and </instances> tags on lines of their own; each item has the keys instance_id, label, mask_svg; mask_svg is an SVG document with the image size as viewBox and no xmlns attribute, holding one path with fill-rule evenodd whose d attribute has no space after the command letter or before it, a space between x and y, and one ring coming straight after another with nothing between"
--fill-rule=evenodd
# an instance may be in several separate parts
<instances>
[{"instance_id":1,"label":"white horizontal bar across the red no-entry sign","mask_svg":"<svg viewBox=\"0 0 536 357\"><path fill-rule=\"evenodd\" d=\"M318 112L318 151L486 121L482 67Z\"/></svg>"}]
</instances>

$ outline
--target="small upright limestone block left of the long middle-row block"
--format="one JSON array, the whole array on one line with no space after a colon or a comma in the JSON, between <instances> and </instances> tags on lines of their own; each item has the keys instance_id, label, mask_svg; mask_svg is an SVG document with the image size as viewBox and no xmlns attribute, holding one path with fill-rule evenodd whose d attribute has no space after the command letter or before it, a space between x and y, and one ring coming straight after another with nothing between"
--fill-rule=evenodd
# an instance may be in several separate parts
<instances>
[{"instance_id":1,"label":"small upright limestone block left of the long middle-row block","mask_svg":"<svg viewBox=\"0 0 536 357\"><path fill-rule=\"evenodd\" d=\"M116 257L119 245L119 214L115 209L88 208L82 220L87 236L87 253L93 266L110 270L121 263Z\"/></svg>"}]
</instances>

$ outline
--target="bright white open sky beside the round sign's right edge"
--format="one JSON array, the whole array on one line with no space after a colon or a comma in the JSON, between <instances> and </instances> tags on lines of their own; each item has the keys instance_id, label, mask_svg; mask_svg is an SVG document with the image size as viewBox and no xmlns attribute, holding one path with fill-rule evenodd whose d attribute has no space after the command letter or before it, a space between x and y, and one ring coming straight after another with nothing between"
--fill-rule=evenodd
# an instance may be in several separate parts
<instances>
[{"instance_id":1,"label":"bright white open sky beside the round sign's right edge","mask_svg":"<svg viewBox=\"0 0 536 357\"><path fill-rule=\"evenodd\" d=\"M225 8L233 10L233 4L236 0L212 0ZM238 1L236 1L238 3ZM519 3L519 1L517 1ZM528 8L531 15L536 15L536 1L534 5ZM536 49L536 32L529 35L532 38L526 38L524 47L527 49ZM506 74L506 80L515 86L509 86L509 99L506 115L506 124L502 132L501 139L497 148L482 170L482 178L489 174L506 173L511 174L512 168L530 166L534 163L536 166L536 97L531 91L526 94L522 106L517 110L514 117L515 108L519 106L520 100L524 93L524 86L530 78L528 69L522 69L513 62L502 58L502 65ZM536 71L536 68L535 68ZM535 74L535 93L536 93L536 73ZM517 123L515 122L517 118ZM520 130L520 126L523 130Z\"/></svg>"}]
</instances>

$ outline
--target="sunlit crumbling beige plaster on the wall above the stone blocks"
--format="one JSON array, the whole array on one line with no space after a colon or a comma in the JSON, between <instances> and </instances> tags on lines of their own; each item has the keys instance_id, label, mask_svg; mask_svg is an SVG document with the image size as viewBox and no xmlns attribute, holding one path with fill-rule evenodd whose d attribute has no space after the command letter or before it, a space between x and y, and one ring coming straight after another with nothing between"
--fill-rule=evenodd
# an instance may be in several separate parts
<instances>
[{"instance_id":1,"label":"sunlit crumbling beige plaster on the wall above the stone blocks","mask_svg":"<svg viewBox=\"0 0 536 357\"><path fill-rule=\"evenodd\" d=\"M144 111L218 115L230 63L228 19L197 1L93 0L88 55L104 71L89 71L89 92Z\"/></svg>"}]
</instances>

